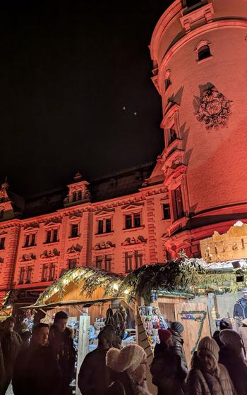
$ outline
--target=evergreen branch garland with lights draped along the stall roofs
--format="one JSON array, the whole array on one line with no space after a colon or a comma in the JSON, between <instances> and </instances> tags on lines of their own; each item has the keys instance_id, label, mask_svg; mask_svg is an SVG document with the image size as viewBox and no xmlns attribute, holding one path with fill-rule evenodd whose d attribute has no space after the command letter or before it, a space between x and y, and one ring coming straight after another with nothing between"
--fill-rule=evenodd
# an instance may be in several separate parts
<instances>
[{"instance_id":1,"label":"evergreen branch garland with lights draped along the stall roofs","mask_svg":"<svg viewBox=\"0 0 247 395\"><path fill-rule=\"evenodd\" d=\"M152 300L152 293L167 291L171 293L190 293L198 295L207 292L223 293L237 291L245 283L236 283L234 269L223 270L220 266L212 269L212 265L205 265L201 259L171 260L166 264L144 265L126 277L104 272L92 267L76 267L68 270L64 275L54 281L38 298L35 305L42 305L54 294L58 293L62 300L66 286L73 282L79 284L83 281L80 294L90 298L98 288L104 288L105 296L116 296L133 300L136 295L144 298L147 305ZM243 276L247 274L242 269Z\"/></svg>"}]
</instances>

